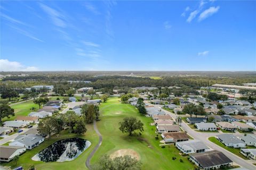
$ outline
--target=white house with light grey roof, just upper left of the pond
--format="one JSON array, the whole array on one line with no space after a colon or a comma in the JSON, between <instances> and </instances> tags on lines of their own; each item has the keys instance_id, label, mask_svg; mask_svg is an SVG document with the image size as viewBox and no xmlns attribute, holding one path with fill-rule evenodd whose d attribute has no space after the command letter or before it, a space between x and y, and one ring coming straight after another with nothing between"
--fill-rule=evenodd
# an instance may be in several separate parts
<instances>
[{"instance_id":1,"label":"white house with light grey roof, just upper left of the pond","mask_svg":"<svg viewBox=\"0 0 256 170\"><path fill-rule=\"evenodd\" d=\"M33 149L44 141L43 137L35 134L18 135L14 141L9 143L9 146L26 147L26 149Z\"/></svg>"}]
</instances>

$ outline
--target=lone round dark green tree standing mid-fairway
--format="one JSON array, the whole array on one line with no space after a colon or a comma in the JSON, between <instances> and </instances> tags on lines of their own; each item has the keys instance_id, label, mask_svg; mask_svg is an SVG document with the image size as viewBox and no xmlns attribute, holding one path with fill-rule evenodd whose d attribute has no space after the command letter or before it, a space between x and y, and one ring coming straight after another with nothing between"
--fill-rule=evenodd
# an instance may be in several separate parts
<instances>
[{"instance_id":1,"label":"lone round dark green tree standing mid-fairway","mask_svg":"<svg viewBox=\"0 0 256 170\"><path fill-rule=\"evenodd\" d=\"M119 124L121 125L119 130L123 133L129 133L130 136L134 131L143 131L143 123L135 117L125 117L123 122L119 122Z\"/></svg>"}]
</instances>

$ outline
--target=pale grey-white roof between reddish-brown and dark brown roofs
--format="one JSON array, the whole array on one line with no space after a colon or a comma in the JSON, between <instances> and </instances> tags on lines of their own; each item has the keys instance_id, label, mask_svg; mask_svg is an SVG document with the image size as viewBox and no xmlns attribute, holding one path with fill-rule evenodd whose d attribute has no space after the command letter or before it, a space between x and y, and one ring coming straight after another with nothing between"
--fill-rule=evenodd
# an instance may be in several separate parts
<instances>
[{"instance_id":1,"label":"pale grey-white roof between reddish-brown and dark brown roofs","mask_svg":"<svg viewBox=\"0 0 256 170\"><path fill-rule=\"evenodd\" d=\"M188 140L188 141L177 142L176 145L181 146L185 150L209 149L203 142L199 140Z\"/></svg>"}]
</instances>

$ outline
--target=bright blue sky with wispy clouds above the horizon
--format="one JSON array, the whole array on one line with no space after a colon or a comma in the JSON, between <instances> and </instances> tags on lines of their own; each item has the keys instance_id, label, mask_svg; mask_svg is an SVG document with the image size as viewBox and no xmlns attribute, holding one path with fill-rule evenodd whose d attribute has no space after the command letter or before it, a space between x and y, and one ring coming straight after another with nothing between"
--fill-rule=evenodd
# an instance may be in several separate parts
<instances>
[{"instance_id":1,"label":"bright blue sky with wispy clouds above the horizon","mask_svg":"<svg viewBox=\"0 0 256 170\"><path fill-rule=\"evenodd\" d=\"M1 71L255 71L255 1L1 1Z\"/></svg>"}]
</instances>

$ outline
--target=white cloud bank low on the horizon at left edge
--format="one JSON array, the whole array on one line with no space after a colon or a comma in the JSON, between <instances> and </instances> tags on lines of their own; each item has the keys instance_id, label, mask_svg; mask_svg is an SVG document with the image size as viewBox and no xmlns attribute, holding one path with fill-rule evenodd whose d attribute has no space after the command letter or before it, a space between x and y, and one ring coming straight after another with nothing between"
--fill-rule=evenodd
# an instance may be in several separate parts
<instances>
[{"instance_id":1,"label":"white cloud bank low on the horizon at left edge","mask_svg":"<svg viewBox=\"0 0 256 170\"><path fill-rule=\"evenodd\" d=\"M19 62L0 59L0 71L38 71L38 68L35 66L25 66Z\"/></svg>"}]
</instances>

